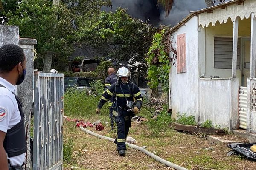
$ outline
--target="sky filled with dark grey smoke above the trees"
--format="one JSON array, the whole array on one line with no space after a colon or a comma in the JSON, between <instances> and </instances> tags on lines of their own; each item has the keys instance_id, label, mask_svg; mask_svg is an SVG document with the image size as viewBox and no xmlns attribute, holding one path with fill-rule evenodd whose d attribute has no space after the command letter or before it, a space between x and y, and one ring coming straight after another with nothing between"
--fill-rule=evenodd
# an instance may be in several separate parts
<instances>
[{"instance_id":1,"label":"sky filled with dark grey smoke above the trees","mask_svg":"<svg viewBox=\"0 0 256 170\"><path fill-rule=\"evenodd\" d=\"M175 0L174 6L168 17L165 17L165 11L157 7L157 0L112 0L112 11L121 6L127 8L127 13L132 17L143 21L149 20L149 23L158 26L160 24L175 26L190 11L206 8L204 0ZM110 8L103 10L110 11Z\"/></svg>"}]
</instances>

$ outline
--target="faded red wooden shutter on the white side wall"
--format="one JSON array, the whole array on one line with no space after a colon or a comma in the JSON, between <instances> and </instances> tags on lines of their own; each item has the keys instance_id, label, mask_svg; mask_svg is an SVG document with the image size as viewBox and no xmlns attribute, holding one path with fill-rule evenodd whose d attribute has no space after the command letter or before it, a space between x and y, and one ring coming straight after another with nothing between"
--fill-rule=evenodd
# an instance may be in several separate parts
<instances>
[{"instance_id":1,"label":"faded red wooden shutter on the white side wall","mask_svg":"<svg viewBox=\"0 0 256 170\"><path fill-rule=\"evenodd\" d=\"M186 34L177 36L177 72L186 73Z\"/></svg>"}]
</instances>

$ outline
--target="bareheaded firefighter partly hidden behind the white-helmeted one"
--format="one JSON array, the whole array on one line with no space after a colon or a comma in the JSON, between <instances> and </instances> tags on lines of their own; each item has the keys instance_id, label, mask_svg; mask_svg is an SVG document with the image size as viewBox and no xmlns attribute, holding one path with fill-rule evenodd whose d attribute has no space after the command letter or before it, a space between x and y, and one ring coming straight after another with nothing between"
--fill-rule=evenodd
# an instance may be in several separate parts
<instances>
[{"instance_id":1,"label":"bareheaded firefighter partly hidden behind the white-helmeted one","mask_svg":"<svg viewBox=\"0 0 256 170\"><path fill-rule=\"evenodd\" d=\"M115 69L114 68L109 68L108 69L108 77L105 80L105 91L110 88L111 85L113 85L116 82L116 74L115 74ZM110 123L111 123L111 131L114 130L114 123L115 123L115 118L113 117L113 101L114 97L112 96L109 103L109 118L110 118Z\"/></svg>"}]
</instances>

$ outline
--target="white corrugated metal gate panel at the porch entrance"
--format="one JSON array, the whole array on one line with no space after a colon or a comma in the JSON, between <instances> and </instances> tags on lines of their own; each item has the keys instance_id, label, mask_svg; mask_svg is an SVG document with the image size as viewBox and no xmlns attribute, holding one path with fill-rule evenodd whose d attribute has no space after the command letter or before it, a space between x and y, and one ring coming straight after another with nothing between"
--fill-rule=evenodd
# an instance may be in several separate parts
<instances>
[{"instance_id":1,"label":"white corrugated metal gate panel at the porch entrance","mask_svg":"<svg viewBox=\"0 0 256 170\"><path fill-rule=\"evenodd\" d=\"M239 127L246 129L247 87L239 88Z\"/></svg>"}]
</instances>

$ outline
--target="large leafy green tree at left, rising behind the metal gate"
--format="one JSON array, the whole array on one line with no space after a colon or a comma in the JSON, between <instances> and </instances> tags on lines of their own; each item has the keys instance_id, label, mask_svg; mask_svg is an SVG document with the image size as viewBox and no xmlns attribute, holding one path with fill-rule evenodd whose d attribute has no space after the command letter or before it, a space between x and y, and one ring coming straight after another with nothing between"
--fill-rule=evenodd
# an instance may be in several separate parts
<instances>
[{"instance_id":1,"label":"large leafy green tree at left, rising behind the metal gate","mask_svg":"<svg viewBox=\"0 0 256 170\"><path fill-rule=\"evenodd\" d=\"M91 3L94 6L88 8ZM74 50L74 32L89 23L88 15L99 14L102 5L109 4L109 0L65 0L57 4L53 6L52 0L22 0L15 12L7 15L8 24L19 26L21 37L38 40L35 48L44 64L44 72L51 69L53 58L70 56ZM81 12L74 10L82 8Z\"/></svg>"}]
</instances>

